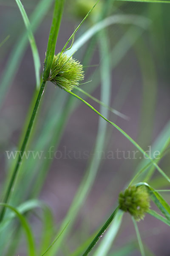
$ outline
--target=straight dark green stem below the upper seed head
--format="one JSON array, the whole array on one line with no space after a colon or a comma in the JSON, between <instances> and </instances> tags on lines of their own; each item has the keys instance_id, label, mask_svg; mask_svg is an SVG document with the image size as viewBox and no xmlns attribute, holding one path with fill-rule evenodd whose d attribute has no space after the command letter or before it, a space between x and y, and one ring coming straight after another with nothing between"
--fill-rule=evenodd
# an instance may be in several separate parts
<instances>
[{"instance_id":1,"label":"straight dark green stem below the upper seed head","mask_svg":"<svg viewBox=\"0 0 170 256\"><path fill-rule=\"evenodd\" d=\"M8 184L8 188L7 188L7 191L6 191L5 198L3 200L3 203L5 203L5 204L8 202L8 199L9 199L9 197L11 195L11 191L12 191L14 182L16 180L19 167L20 167L21 161L23 159L24 150L26 148L26 145L27 145L27 142L28 142L28 138L29 138L29 135L31 133L31 129L33 127L33 123L34 123L34 120L35 120L35 116L37 114L37 110L38 110L38 107L40 105L40 100L41 100L43 92L44 92L44 87L45 87L45 81L43 80L42 84L41 84L41 87L40 87L39 94L37 96L37 100L36 100L36 103L35 103L35 106L34 106L34 110L33 110L32 115L31 115L30 122L28 124L26 135L24 137L23 144L22 144L21 149L20 149L20 154L18 156L17 163L15 165L14 171L13 171L11 179L10 179L10 182ZM0 222L3 220L4 214L5 214L5 210L6 210L6 208L3 207L1 212L0 212Z\"/></svg>"}]
</instances>

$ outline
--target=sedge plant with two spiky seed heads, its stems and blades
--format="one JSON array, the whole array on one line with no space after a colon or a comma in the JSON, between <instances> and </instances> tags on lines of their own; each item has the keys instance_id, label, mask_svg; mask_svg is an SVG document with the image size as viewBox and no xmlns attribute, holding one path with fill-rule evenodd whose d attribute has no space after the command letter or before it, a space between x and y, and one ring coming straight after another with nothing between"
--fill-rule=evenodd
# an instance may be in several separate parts
<instances>
[{"instance_id":1,"label":"sedge plant with two spiky seed heads, its stems and blades","mask_svg":"<svg viewBox=\"0 0 170 256\"><path fill-rule=\"evenodd\" d=\"M133 1L135 1L135 0L133 0ZM157 3L157 2L169 3L169 1L159 1L159 0L152 0L152 1L151 0L150 1L149 0L146 0L146 1L141 0L141 1L142 2L150 2L150 3L152 3L152 2L153 3ZM23 211L21 213L20 211L18 211L17 208L12 207L10 204L8 204L8 201L11 197L14 183L17 180L17 175L20 170L20 165L22 164L22 161L23 161L23 154L26 149L28 140L31 136L31 131L33 128L35 118L37 116L37 111L40 106L40 101L42 99L43 93L45 92L45 84L47 81L51 81L53 84L55 84L56 87L59 87L59 89L62 89L65 93L68 93L71 97L74 97L74 98L78 99L79 101L83 102L85 105L87 105L91 110L93 110L96 114L98 114L98 116L100 116L102 118L103 122L107 122L107 123L111 124L114 128L116 128L124 137L127 138L127 140L130 141L130 143L132 143L145 157L147 157L147 159L149 161L149 163L147 163L145 166L143 166L141 169L139 169L139 171L136 173L136 175L130 181L129 186L127 186L127 188L123 192L119 193L119 198L117 200L117 206L115 207L113 213L108 218L108 220L105 222L105 224L102 226L102 228L99 230L99 232L94 236L94 238L91 239L91 242L89 243L87 249L84 250L84 252L82 252L82 249L81 249L81 252L82 252L81 255L83 255L83 256L88 255L91 252L91 250L94 249L97 242L99 240L101 240L101 238L103 236L105 236L105 239L103 239L103 241L100 243L100 245L97 248L97 250L95 251L94 255L96 255L96 256L106 255L106 253L108 253L108 251L111 248L111 244L113 243L113 240L116 237L116 234L119 231L119 228L122 223L121 222L122 217L123 217L123 215L125 215L124 213L128 212L132 217L132 222L133 222L135 230L136 230L136 236L137 236L137 240L139 242L139 250L141 252L141 255L144 256L145 255L144 245L142 243L142 239L141 239L136 221L141 221L141 219L143 219L146 214L150 214L154 218L157 218L158 220L160 220L170 226L170 206L165 201L165 199L159 194L159 191L157 191L156 189L153 189L153 187L150 186L149 183L144 182L145 180L141 180L141 182L136 183L136 179L141 177L141 174L143 174L144 171L150 167L152 169L148 174L149 176L147 175L147 177L145 179L149 180L149 178L153 174L154 169L157 169L159 174L166 180L167 183L170 183L170 178L163 171L163 169L161 169L159 167L159 165L158 165L159 161L153 160L152 157L150 157L135 140L133 140L125 131L123 131L118 125L116 125L116 123L111 122L108 119L108 116L105 117L102 113L97 111L91 104L89 104L88 101L86 101L85 99L82 99L79 95L77 95L76 93L74 93L72 91L77 88L77 91L79 90L80 92L84 93L85 96L88 96L88 97L94 99L96 102L98 102L100 105L102 105L102 107L108 108L113 113L115 111L115 110L113 110L113 108L110 108L107 104L103 103L102 101L97 100L93 96L90 96L90 94L86 93L84 90L79 89L79 86L81 85L80 82L83 81L83 79L84 79L85 72L83 69L83 65L78 60L76 60L74 58L74 56L73 56L74 52L69 54L69 50L73 50L75 47L74 43L71 44L71 47L66 49L69 42L74 39L76 32L82 26L82 24L87 19L87 17L91 14L91 12L95 8L95 6L99 2L99 0L96 1L94 6L92 6L90 11L87 13L87 15L79 23L79 26L77 26L77 29L74 30L74 32L72 33L72 35L70 36L70 38L68 39L68 41L66 42L64 47L62 48L62 50L60 52L58 52L57 55L55 55L55 48L56 48L57 37L58 37L58 33L59 33L59 28L60 28L62 12L64 9L65 1L64 0L56 0L55 1L53 20L52 20L52 24L51 24L49 39L48 39L48 46L47 46L47 51L46 51L46 55L45 55L45 62L44 62L44 68L43 68L43 74L42 74L42 83L41 83L40 87L39 87L39 84L40 84L40 75L39 75L40 59L39 59L39 55L38 55L38 51L37 51L37 46L36 46L36 43L34 40L34 35L31 31L31 25L29 23L28 17L26 15L26 12L23 8L22 3L20 2L20 0L16 0L16 2L20 9L20 12L23 16L23 20L26 25L26 29L27 29L27 33L28 33L28 39L31 44L31 49L32 49L33 58L34 58L37 89L39 90L39 92L38 92L38 95L36 95L37 99L35 101L35 105L34 105L34 108L33 108L32 114L31 114L30 121L28 123L28 128L26 129L26 134L23 138L23 142L21 143L21 148L20 148L21 154L19 155L19 157L16 161L16 165L14 166L14 170L12 171L3 202L0 204L2 207L1 212L0 212L0 223L3 225L4 221L6 221L6 215L5 215L6 208L8 208L12 212L14 212L15 215L17 215L17 217L19 218L19 220L22 224L22 227L24 228L25 233L26 233L26 237L27 237L27 241L28 241L28 255L30 255L30 256L37 255L36 249L35 249L34 236L29 227L29 224L26 220L26 217L23 216L23 214L22 214L25 211ZM116 18L116 17L114 17L114 18ZM128 22L135 23L136 20L132 22L132 20L135 17L131 17L131 18L132 19L130 20L130 17L128 17L128 19L127 19L125 16L124 17L120 16L118 18L118 20L122 20L122 23L128 23ZM108 20L105 20L102 23L101 28L109 26L112 23L114 23L114 20L111 21L111 18ZM100 25L101 25L101 23L100 23ZM100 29L99 29L99 24L98 24L98 26L96 26L96 27L94 26L92 31L95 30L98 32ZM93 33L96 33L96 32L93 32ZM81 46L81 44L82 44L82 42L79 43L79 47ZM108 59L105 62L106 65L109 63L107 61L108 61ZM109 65L108 65L108 67L109 67ZM103 78L105 78L105 76L103 76ZM110 83L109 79L107 82L108 82L108 84ZM118 111L116 112L116 114L118 114L119 116L122 115L122 117L123 116L126 117L125 115L121 114ZM170 141L168 138L168 140L165 143L164 148L162 148L162 152L160 154L160 159L161 159L161 157L164 156L164 154L169 146L169 143L170 143ZM82 185L81 189L82 190L84 189L83 185ZM168 192L169 190L166 190L166 191ZM156 211L153 211L152 209L150 209L150 201L153 201L153 203L156 205L156 207L161 212L161 215L159 213L157 213ZM37 205L37 204L38 203L36 203L35 205ZM30 209L31 208L34 208L34 206L30 207ZM11 219L13 217L14 216L11 216ZM54 253L56 253L56 250L53 253L51 249L54 248L55 244L57 243L57 241L59 239L62 240L62 236L65 233L65 231L67 230L67 227L69 227L70 221L68 221L64 225L64 227L62 227L62 229L58 232L56 238L53 239L52 243L46 248L46 250L44 250L44 252L41 252L41 256L43 256L45 254L52 256L52 255L54 255ZM108 230L108 232L106 232L107 230ZM107 233L107 234L105 235L105 233ZM50 252L52 252L52 253L50 254Z\"/></svg>"}]
</instances>

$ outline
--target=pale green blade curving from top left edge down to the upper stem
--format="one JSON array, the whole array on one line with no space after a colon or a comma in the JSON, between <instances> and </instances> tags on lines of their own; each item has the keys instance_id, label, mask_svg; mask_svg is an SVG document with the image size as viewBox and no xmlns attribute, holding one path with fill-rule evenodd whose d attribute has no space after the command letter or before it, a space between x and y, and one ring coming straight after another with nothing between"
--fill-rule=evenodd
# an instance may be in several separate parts
<instances>
[{"instance_id":1,"label":"pale green blade curving from top left edge down to the upper stem","mask_svg":"<svg viewBox=\"0 0 170 256\"><path fill-rule=\"evenodd\" d=\"M28 20L28 16L26 14L26 11L23 7L23 4L21 3L20 0L15 0L18 8L20 9L21 15L23 17L27 32L28 32L28 38L29 38L29 42L31 45L31 50L32 50L32 55L34 58L34 68L35 68L35 76L36 76L36 81L37 81L37 88L40 88L40 67L41 67L41 62L40 62L40 56L38 53L38 49L37 49L37 45L34 39L34 35L31 31L31 25L30 22Z\"/></svg>"}]
</instances>

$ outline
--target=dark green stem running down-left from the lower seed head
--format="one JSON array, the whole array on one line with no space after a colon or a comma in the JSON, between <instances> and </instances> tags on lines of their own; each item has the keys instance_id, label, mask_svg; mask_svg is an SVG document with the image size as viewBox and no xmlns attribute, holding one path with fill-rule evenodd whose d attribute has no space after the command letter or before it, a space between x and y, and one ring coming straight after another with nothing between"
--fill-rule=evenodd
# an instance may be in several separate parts
<instances>
[{"instance_id":1,"label":"dark green stem running down-left from the lower seed head","mask_svg":"<svg viewBox=\"0 0 170 256\"><path fill-rule=\"evenodd\" d=\"M96 245L96 243L99 241L99 239L102 237L102 234L105 232L105 230L109 227L109 225L111 224L111 222L113 221L113 218L115 217L117 211L118 211L119 207L116 207L116 209L114 210L114 212L112 213L112 215L108 218L108 220L105 222L105 224L103 225L103 227L101 228L101 230L99 231L99 233L95 236L95 238L93 239L93 241L91 242L91 244L89 245L89 247L87 248L87 250L85 251L85 253L83 253L82 256L86 256L88 255L88 253L90 253L90 251L93 249L93 247Z\"/></svg>"}]
</instances>

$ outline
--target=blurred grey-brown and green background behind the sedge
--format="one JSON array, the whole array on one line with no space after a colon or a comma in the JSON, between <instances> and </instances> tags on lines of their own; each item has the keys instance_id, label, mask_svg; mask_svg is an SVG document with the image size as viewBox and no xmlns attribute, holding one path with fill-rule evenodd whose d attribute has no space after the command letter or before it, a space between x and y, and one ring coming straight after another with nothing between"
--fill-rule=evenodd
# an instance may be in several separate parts
<instances>
[{"instance_id":1,"label":"blurred grey-brown and green background behind the sedge","mask_svg":"<svg viewBox=\"0 0 170 256\"><path fill-rule=\"evenodd\" d=\"M37 0L22 1L30 20L38 2ZM42 62L45 59L51 26L54 5L52 2L34 33ZM56 53L62 49L87 10L91 8L92 2L87 1L85 4L82 1L66 1ZM96 10L77 32L75 41L102 18L103 6L105 6L104 1L96 6ZM161 151L162 143L164 144L170 131L169 13L169 4L113 1L112 8L109 9L106 17L114 14L142 15L150 20L150 25L146 29L120 23L111 25L104 29L107 44L102 45L102 34L98 33L74 54L74 57L82 61L85 66L96 65L84 68L85 81L91 82L83 84L82 89L124 113L129 120L108 112L106 108L76 90L75 93L79 93L97 110L108 115L111 121L116 122L144 150L149 150L148 146L151 146L152 152ZM15 1L0 0L0 42L10 35L5 44L0 47L0 188L2 195L6 187L6 177L10 175L11 166L14 163L14 160L8 159L6 151L17 150L20 137L28 122L26 120L31 102L34 102L33 96L36 95L34 63L28 42L23 54L15 63L15 72L11 73L8 68L12 56L16 53L16 45L21 41L24 32L25 26ZM102 48L108 52L107 56L102 55ZM105 68L107 57L111 70L110 91L107 86L101 86L102 77L104 76L105 79L103 68ZM56 151L56 157L53 159L48 157L50 148ZM77 99L72 99L50 82L45 89L38 118L34 124L34 132L28 143L28 150L43 151L43 157L35 160L29 157L28 160L23 161L11 197L11 204L18 206L28 199L40 198L52 209L57 228L67 215L82 180L86 180L91 173L91 181L89 181L91 185L88 183L86 199L57 255L72 255L71 253L80 244L98 230L116 207L119 192L125 188L136 169L141 164L147 163L140 153L136 154L137 159L128 157L128 154L132 156L132 151L136 148L122 134L102 119L100 120L86 105L78 102ZM121 151L120 159L116 157L116 150ZM114 159L108 157L111 151L114 153ZM160 166L167 175L170 175L168 154L161 160ZM158 172L151 177L150 185L156 189L168 188L167 181ZM167 192L163 193L163 196L170 202ZM34 210L30 214L30 222L37 242L42 233L38 213L39 210ZM14 223L9 232L11 239L20 240L13 255L24 256L26 243L22 236L15 237L17 228L18 223ZM146 215L144 221L139 223L139 230L147 255L170 255L168 226ZM9 255L11 239L7 244L6 239L1 238L1 255ZM128 247L126 255L140 255L135 230L128 214L124 215L119 235L108 255L119 255L119 249L125 246Z\"/></svg>"}]
</instances>

